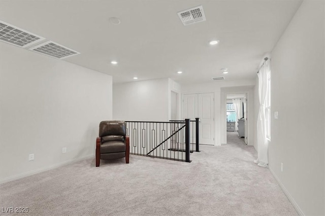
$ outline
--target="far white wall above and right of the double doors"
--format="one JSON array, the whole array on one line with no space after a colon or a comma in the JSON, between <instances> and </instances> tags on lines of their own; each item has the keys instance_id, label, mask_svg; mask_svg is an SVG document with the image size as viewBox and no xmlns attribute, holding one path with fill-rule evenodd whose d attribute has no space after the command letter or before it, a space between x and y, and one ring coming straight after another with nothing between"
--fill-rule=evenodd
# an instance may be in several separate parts
<instances>
[{"instance_id":1,"label":"far white wall above and right of the double doors","mask_svg":"<svg viewBox=\"0 0 325 216\"><path fill-rule=\"evenodd\" d=\"M220 146L221 143L226 142L226 113L225 113L225 103L226 103L226 93L242 93L241 91L230 91L223 92L221 98L221 88L223 87L236 87L236 86L253 86L255 85L255 80L241 80L241 81L211 81L209 83L200 83L200 84L190 84L182 85L182 95L183 94L194 94L194 93L214 93L214 119L215 119L215 145ZM252 88L252 87L251 87ZM239 89L240 90L240 89ZM253 96L252 96L253 99ZM221 107L223 107L224 113L221 113ZM248 109L253 106L248 106ZM248 110L248 112L250 112ZM251 111L254 112L254 111ZM224 118L221 117L224 115ZM221 121L221 118L224 121ZM224 122L224 123L222 123ZM221 125L224 124L224 125ZM252 133L254 131L249 129ZM222 132L221 132L222 131ZM225 137L225 138L224 138ZM253 143L249 143L253 145Z\"/></svg>"}]
</instances>

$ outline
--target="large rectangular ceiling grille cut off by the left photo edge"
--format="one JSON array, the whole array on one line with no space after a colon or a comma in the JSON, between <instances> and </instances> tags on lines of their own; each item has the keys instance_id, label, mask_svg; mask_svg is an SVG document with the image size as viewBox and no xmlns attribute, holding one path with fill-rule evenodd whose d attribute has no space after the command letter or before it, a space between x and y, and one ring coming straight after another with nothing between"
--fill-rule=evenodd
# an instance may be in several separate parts
<instances>
[{"instance_id":1,"label":"large rectangular ceiling grille cut off by the left photo edge","mask_svg":"<svg viewBox=\"0 0 325 216\"><path fill-rule=\"evenodd\" d=\"M39 35L0 20L0 40L3 42L25 48L44 39Z\"/></svg>"}]
</instances>

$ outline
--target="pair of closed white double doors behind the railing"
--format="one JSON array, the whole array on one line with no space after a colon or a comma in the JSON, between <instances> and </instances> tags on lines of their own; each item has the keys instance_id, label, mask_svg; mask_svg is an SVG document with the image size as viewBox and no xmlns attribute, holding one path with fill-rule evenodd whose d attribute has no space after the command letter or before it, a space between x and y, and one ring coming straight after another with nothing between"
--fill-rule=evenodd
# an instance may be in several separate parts
<instances>
[{"instance_id":1,"label":"pair of closed white double doors behind the railing","mask_svg":"<svg viewBox=\"0 0 325 216\"><path fill-rule=\"evenodd\" d=\"M200 144L214 145L214 93L184 94L182 107L183 119L200 118Z\"/></svg>"}]
</instances>

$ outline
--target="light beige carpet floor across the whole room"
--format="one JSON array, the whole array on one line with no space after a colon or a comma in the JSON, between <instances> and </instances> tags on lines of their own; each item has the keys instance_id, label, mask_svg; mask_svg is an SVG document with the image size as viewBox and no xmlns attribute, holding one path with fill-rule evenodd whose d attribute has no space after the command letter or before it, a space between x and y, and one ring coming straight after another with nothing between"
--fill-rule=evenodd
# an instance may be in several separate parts
<instances>
[{"instance_id":1,"label":"light beige carpet floor across the whole room","mask_svg":"<svg viewBox=\"0 0 325 216\"><path fill-rule=\"evenodd\" d=\"M298 215L256 151L236 133L221 147L200 145L191 163L130 156L85 159L0 185L6 215Z\"/></svg>"}]
</instances>

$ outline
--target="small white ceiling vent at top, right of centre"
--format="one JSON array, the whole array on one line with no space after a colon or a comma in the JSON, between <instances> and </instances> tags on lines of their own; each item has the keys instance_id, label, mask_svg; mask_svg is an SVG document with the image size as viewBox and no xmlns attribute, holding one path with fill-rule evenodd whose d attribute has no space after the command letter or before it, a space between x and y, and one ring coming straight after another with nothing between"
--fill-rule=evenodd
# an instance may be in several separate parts
<instances>
[{"instance_id":1,"label":"small white ceiling vent at top, right of centre","mask_svg":"<svg viewBox=\"0 0 325 216\"><path fill-rule=\"evenodd\" d=\"M202 5L178 12L177 14L184 25L189 25L206 20Z\"/></svg>"}]
</instances>

